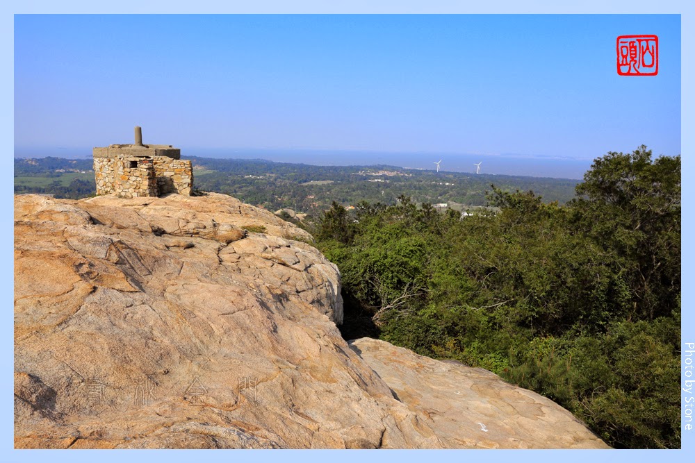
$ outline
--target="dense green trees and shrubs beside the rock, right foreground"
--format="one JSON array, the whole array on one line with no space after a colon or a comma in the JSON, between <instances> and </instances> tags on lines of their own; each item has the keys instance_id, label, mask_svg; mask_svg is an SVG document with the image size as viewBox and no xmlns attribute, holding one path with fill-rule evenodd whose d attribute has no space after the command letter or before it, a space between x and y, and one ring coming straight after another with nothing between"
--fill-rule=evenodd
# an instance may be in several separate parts
<instances>
[{"instance_id":1,"label":"dense green trees and shrubs beside the rock, right foreground","mask_svg":"<svg viewBox=\"0 0 695 463\"><path fill-rule=\"evenodd\" d=\"M608 153L563 205L487 199L500 212L334 202L313 233L343 336L489 369L616 448L680 448L680 156Z\"/></svg>"}]
</instances>

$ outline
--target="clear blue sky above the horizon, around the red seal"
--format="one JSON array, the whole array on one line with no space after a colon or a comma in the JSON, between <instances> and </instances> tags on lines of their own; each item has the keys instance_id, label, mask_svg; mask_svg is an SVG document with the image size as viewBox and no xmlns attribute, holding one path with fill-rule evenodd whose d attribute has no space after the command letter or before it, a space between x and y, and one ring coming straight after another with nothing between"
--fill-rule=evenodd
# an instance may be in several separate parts
<instances>
[{"instance_id":1,"label":"clear blue sky above the horizon, around the red seal","mask_svg":"<svg viewBox=\"0 0 695 463\"><path fill-rule=\"evenodd\" d=\"M659 36L658 76L617 75L626 34ZM15 16L16 152L135 125L189 153L676 155L680 16Z\"/></svg>"}]
</instances>

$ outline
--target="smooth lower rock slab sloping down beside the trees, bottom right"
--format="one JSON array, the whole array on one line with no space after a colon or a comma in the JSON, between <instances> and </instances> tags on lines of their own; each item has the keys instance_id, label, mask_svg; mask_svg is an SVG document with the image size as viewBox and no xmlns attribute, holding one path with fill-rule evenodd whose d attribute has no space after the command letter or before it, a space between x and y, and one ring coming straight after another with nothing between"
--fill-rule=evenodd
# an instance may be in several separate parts
<instances>
[{"instance_id":1,"label":"smooth lower rock slab sloping down beside the trees, bottom right","mask_svg":"<svg viewBox=\"0 0 695 463\"><path fill-rule=\"evenodd\" d=\"M350 348L448 448L607 448L550 399L490 371L432 360L378 339Z\"/></svg>"}]
</instances>

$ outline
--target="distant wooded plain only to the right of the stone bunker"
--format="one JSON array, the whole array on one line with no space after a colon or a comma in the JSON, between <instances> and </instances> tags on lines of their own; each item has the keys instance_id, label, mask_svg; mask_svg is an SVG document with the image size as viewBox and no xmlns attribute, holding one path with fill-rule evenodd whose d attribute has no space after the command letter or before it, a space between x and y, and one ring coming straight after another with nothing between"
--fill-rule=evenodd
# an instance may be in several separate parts
<instances>
[{"instance_id":1,"label":"distant wooded plain only to the right of the stone bunker","mask_svg":"<svg viewBox=\"0 0 695 463\"><path fill-rule=\"evenodd\" d=\"M201 190L229 194L268 210L291 208L313 217L332 201L357 205L359 201L394 203L407 193L416 202L484 205L485 190L494 181L502 190L521 188L541 192L560 203L569 201L578 180L494 176L464 172L403 169L387 165L314 166L265 160L188 158ZM379 172L384 174L379 175Z\"/></svg>"}]
</instances>

